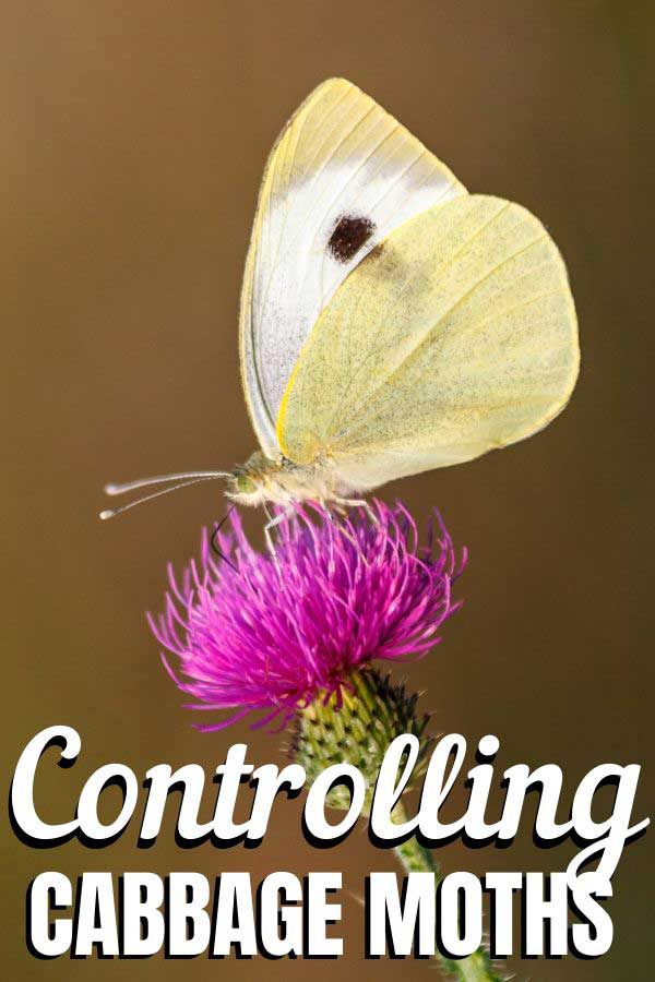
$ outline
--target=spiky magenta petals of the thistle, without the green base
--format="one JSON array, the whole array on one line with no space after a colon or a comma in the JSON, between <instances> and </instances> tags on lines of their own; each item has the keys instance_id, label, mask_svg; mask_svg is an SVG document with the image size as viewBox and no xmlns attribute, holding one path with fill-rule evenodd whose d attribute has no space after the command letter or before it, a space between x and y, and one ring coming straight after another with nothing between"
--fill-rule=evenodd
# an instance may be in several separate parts
<instances>
[{"instance_id":1,"label":"spiky magenta petals of the thistle, without the green base","mask_svg":"<svg viewBox=\"0 0 655 982\"><path fill-rule=\"evenodd\" d=\"M236 710L201 730L255 710L255 726L284 726L319 697L338 707L354 672L422 656L460 607L451 589L465 551L456 562L437 513L424 547L406 507L380 501L344 518L297 506L277 531L275 555L258 552L233 510L216 536L225 561L204 530L200 562L181 577L169 566L165 611L148 616L191 708Z\"/></svg>"}]
</instances>

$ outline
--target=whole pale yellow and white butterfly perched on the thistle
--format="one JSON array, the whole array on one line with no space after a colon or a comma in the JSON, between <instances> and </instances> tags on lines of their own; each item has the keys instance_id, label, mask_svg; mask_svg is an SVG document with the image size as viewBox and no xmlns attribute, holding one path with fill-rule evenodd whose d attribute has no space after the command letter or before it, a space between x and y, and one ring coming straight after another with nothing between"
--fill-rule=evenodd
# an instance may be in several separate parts
<instances>
[{"instance_id":1,"label":"whole pale yellow and white butterfly perched on the thistle","mask_svg":"<svg viewBox=\"0 0 655 982\"><path fill-rule=\"evenodd\" d=\"M233 471L109 494L166 484L145 501L224 478L239 504L366 506L388 481L541 430L580 363L567 271L541 223L469 194L344 79L309 95L269 157L239 340L260 450Z\"/></svg>"}]
</instances>

